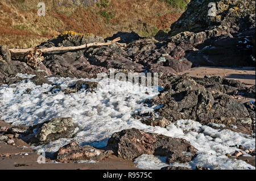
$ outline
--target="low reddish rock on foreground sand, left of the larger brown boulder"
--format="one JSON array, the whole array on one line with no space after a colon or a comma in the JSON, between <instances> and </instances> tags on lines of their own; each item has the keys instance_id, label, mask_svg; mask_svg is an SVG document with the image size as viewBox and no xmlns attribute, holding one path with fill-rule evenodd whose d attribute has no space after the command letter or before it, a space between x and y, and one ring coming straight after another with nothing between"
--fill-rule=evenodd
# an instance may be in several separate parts
<instances>
[{"instance_id":1,"label":"low reddish rock on foreground sand, left of the larger brown boulder","mask_svg":"<svg viewBox=\"0 0 256 181\"><path fill-rule=\"evenodd\" d=\"M102 150L93 148L92 146L80 146L77 142L72 142L61 147L54 157L57 162L75 162L83 160L100 160L105 158Z\"/></svg>"}]
</instances>

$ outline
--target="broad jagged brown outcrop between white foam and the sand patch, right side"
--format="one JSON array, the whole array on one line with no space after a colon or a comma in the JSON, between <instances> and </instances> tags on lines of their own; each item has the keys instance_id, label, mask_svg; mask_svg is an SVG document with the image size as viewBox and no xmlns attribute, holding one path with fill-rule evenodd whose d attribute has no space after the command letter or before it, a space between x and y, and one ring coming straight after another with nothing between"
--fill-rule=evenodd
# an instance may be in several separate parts
<instances>
[{"instance_id":1,"label":"broad jagged brown outcrop between white foam and the sand patch, right side","mask_svg":"<svg viewBox=\"0 0 256 181\"><path fill-rule=\"evenodd\" d=\"M253 103L243 104L233 95L245 89L239 81L221 77L193 78L187 75L163 78L164 91L147 104L159 106L155 112L161 117L156 118L154 112L137 115L142 122L155 125L156 120L165 120L164 124L180 119L191 119L201 124L217 123L230 124L240 120L255 119ZM255 108L254 108L255 109ZM161 122L160 122L161 123ZM248 124L253 132L253 125Z\"/></svg>"}]
</instances>

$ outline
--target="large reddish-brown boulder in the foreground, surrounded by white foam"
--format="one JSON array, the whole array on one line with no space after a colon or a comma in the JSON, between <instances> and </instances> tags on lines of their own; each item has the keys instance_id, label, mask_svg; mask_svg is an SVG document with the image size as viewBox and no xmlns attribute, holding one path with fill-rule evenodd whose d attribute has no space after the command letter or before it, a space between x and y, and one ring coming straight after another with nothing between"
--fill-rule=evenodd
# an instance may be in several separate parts
<instances>
[{"instance_id":1,"label":"large reddish-brown boulder in the foreground, surrounded by white foam","mask_svg":"<svg viewBox=\"0 0 256 181\"><path fill-rule=\"evenodd\" d=\"M191 161L196 149L186 140L171 138L155 133L145 133L138 129L126 129L114 133L107 148L123 159L134 159L142 154L154 154L167 158L167 163ZM191 155L191 157L187 157ZM190 160L189 160L190 159Z\"/></svg>"}]
</instances>

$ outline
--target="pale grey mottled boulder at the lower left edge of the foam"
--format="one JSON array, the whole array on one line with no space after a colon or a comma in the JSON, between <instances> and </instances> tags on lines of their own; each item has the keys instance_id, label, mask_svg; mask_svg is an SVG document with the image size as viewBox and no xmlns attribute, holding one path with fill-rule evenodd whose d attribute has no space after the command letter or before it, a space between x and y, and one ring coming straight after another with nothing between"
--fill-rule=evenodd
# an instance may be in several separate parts
<instances>
[{"instance_id":1,"label":"pale grey mottled boulder at the lower left edge of the foam","mask_svg":"<svg viewBox=\"0 0 256 181\"><path fill-rule=\"evenodd\" d=\"M74 130L72 117L55 117L44 123L35 137L38 139L38 144L42 145L59 138L71 138Z\"/></svg>"}]
</instances>

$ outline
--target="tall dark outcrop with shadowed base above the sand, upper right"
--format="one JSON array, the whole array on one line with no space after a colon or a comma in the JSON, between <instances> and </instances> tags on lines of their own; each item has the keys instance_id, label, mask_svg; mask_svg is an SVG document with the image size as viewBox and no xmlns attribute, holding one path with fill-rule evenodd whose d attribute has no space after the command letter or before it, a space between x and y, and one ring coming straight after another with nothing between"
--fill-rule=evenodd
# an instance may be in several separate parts
<instances>
[{"instance_id":1,"label":"tall dark outcrop with shadowed base above the sand, upper right","mask_svg":"<svg viewBox=\"0 0 256 181\"><path fill-rule=\"evenodd\" d=\"M255 66L255 1L192 0L168 35L193 66Z\"/></svg>"}]
</instances>

